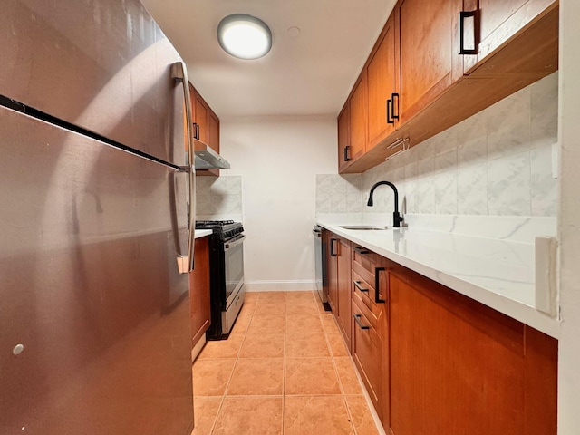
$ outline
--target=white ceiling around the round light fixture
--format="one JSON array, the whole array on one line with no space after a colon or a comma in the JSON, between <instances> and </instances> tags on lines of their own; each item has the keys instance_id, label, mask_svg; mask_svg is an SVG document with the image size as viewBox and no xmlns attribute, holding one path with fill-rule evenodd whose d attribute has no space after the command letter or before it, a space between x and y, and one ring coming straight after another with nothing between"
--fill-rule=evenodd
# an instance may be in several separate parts
<instances>
[{"instance_id":1,"label":"white ceiling around the round light fixture","mask_svg":"<svg viewBox=\"0 0 580 435\"><path fill-rule=\"evenodd\" d=\"M141 0L220 117L337 115L394 0ZM269 25L262 59L223 52L219 21L252 14ZM292 36L291 27L300 34Z\"/></svg>"}]
</instances>

